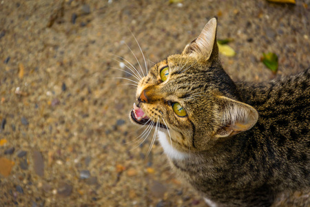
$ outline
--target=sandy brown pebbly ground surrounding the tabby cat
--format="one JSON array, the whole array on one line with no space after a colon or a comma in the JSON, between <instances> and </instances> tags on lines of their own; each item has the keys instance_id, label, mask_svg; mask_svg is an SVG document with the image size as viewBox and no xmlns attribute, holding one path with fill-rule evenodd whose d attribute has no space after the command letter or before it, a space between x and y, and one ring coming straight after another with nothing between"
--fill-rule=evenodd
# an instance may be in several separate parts
<instances>
[{"instance_id":1,"label":"sandy brown pebbly ground surrounding the tabby cat","mask_svg":"<svg viewBox=\"0 0 310 207\"><path fill-rule=\"evenodd\" d=\"M126 144L143 130L123 57L138 67L181 52L218 16L234 80L273 79L310 66L310 1L0 1L0 206L205 206L156 143ZM117 56L119 57L117 57ZM121 64L122 65L122 64ZM284 197L309 201L309 194ZM286 203L286 204L285 204Z\"/></svg>"}]
</instances>

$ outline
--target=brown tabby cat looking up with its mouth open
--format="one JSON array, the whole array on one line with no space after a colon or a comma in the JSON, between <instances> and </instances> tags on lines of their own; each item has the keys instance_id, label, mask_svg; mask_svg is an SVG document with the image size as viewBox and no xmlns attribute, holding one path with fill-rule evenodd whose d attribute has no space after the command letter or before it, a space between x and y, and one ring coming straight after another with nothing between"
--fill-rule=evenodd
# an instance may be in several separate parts
<instances>
[{"instance_id":1,"label":"brown tabby cat looking up with its mouth open","mask_svg":"<svg viewBox=\"0 0 310 207\"><path fill-rule=\"evenodd\" d=\"M210 206L271 206L310 186L310 71L263 83L223 70L211 19L138 83L136 124L156 126L172 168Z\"/></svg>"}]
</instances>

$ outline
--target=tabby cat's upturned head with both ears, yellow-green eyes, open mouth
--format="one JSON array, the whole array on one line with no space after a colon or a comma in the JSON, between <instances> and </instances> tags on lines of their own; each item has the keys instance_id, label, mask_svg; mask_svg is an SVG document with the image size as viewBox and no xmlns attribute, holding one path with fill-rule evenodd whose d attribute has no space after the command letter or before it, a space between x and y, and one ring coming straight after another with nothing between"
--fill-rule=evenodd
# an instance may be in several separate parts
<instances>
[{"instance_id":1,"label":"tabby cat's upturned head with both ears, yellow-green eyes, open mouth","mask_svg":"<svg viewBox=\"0 0 310 207\"><path fill-rule=\"evenodd\" d=\"M249 130L258 119L253 107L239 101L220 64L216 27L213 18L182 54L156 63L139 81L138 106L130 113L136 124L168 128L172 146L183 152L207 150L218 139Z\"/></svg>"}]
</instances>

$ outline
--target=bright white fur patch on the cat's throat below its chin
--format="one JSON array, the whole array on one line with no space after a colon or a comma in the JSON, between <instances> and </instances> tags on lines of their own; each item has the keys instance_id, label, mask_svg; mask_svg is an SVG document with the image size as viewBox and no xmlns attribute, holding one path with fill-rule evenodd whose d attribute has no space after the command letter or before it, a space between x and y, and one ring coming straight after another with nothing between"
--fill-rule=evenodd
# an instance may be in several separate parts
<instances>
[{"instance_id":1,"label":"bright white fur patch on the cat's throat below its chin","mask_svg":"<svg viewBox=\"0 0 310 207\"><path fill-rule=\"evenodd\" d=\"M185 159L189 157L189 155L185 152L180 152L173 148L173 144L171 145L171 141L169 140L169 136L167 136L166 132L158 131L158 140L163 147L165 154L171 159Z\"/></svg>"}]
</instances>

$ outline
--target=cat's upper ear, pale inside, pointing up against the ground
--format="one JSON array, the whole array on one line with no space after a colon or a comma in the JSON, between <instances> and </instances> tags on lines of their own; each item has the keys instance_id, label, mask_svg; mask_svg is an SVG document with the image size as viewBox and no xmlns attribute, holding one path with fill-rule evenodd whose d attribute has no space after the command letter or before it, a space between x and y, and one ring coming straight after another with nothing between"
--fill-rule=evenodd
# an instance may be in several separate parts
<instances>
[{"instance_id":1,"label":"cat's upper ear, pale inside, pointing up against the ground","mask_svg":"<svg viewBox=\"0 0 310 207\"><path fill-rule=\"evenodd\" d=\"M216 43L216 28L218 20L216 17L210 19L199 36L189 43L183 50L182 55L203 57L210 59L211 55L218 57L218 45Z\"/></svg>"}]
</instances>

